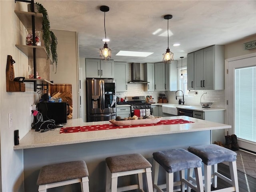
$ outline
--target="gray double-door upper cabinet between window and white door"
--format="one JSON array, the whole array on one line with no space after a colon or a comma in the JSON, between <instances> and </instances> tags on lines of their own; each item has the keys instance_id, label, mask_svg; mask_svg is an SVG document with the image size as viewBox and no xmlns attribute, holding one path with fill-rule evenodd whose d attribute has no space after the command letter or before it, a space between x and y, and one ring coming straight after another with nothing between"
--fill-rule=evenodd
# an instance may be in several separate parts
<instances>
[{"instance_id":1,"label":"gray double-door upper cabinet between window and white door","mask_svg":"<svg viewBox=\"0 0 256 192\"><path fill-rule=\"evenodd\" d=\"M224 90L224 56L223 45L188 54L188 90Z\"/></svg>"}]
</instances>

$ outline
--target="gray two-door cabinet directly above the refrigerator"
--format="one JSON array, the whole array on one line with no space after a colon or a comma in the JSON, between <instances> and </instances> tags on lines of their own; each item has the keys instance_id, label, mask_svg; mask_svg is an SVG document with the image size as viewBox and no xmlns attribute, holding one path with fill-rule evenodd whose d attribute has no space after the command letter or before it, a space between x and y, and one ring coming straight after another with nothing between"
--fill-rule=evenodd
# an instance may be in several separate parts
<instances>
[{"instance_id":1,"label":"gray two-door cabinet directly above the refrigerator","mask_svg":"<svg viewBox=\"0 0 256 192\"><path fill-rule=\"evenodd\" d=\"M114 78L114 60L86 59L86 78Z\"/></svg>"}]
</instances>

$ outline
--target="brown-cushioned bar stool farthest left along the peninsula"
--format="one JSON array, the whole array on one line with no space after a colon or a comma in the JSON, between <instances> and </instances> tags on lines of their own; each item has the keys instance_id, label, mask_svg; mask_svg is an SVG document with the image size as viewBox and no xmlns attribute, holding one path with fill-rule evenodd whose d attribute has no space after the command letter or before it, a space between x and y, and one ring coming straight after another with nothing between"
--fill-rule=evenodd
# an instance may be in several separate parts
<instances>
[{"instance_id":1,"label":"brown-cushioned bar stool farthest left along the peninsula","mask_svg":"<svg viewBox=\"0 0 256 192\"><path fill-rule=\"evenodd\" d=\"M88 170L84 161L72 161L43 166L39 172L38 192L49 188L81 183L82 192L89 192Z\"/></svg>"}]
</instances>

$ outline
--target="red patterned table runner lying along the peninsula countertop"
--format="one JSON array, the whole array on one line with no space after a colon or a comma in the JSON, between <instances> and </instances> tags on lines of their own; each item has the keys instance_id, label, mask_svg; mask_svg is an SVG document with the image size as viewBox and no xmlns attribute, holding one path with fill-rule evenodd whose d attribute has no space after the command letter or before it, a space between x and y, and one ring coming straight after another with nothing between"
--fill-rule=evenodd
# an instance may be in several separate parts
<instances>
[{"instance_id":1,"label":"red patterned table runner lying along the peninsula countertop","mask_svg":"<svg viewBox=\"0 0 256 192\"><path fill-rule=\"evenodd\" d=\"M194 123L194 122L183 120L183 119L173 119L173 120L160 120L160 122L158 123L144 124L144 125L116 126L113 124L103 124L103 125L89 125L89 126L76 126L76 127L62 127L60 129L60 133L75 133L75 132L86 132L86 131L97 131L97 130L108 130L108 129L146 127L146 126L156 126L156 125L184 124L184 123Z\"/></svg>"}]
</instances>

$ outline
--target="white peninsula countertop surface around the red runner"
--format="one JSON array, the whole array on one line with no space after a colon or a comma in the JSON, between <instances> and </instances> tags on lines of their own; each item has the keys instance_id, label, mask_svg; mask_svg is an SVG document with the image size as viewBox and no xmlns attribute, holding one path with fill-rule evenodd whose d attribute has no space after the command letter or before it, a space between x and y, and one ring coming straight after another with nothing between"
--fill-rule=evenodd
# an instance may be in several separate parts
<instances>
[{"instance_id":1,"label":"white peninsula countertop surface around the red runner","mask_svg":"<svg viewBox=\"0 0 256 192\"><path fill-rule=\"evenodd\" d=\"M47 132L35 132L30 130L21 140L19 145L14 146L14 150L39 148L47 146L58 146L66 144L113 140L121 138L152 136L161 134L174 134L182 132L195 132L204 130L217 130L231 128L230 125L210 122L197 118L191 118L188 116L173 116L163 117L164 119L183 119L189 120L194 123L187 124L172 124L172 125L158 125L158 126L146 126L135 128L121 128L112 130L97 130L89 132L76 132L76 133L62 133L60 134L60 128L56 128L53 131ZM86 125L98 125L109 124L108 121L102 122L83 122L82 119L70 119L64 127L71 126L86 126Z\"/></svg>"}]
</instances>

